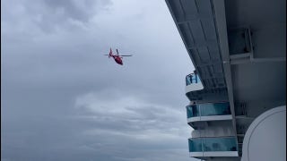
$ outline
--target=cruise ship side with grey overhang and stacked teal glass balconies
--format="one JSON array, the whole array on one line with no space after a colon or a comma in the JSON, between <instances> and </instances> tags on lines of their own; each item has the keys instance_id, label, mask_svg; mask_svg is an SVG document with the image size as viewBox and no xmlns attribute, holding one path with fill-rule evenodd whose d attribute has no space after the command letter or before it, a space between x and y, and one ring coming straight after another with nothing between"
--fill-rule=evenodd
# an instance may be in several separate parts
<instances>
[{"instance_id":1,"label":"cruise ship side with grey overhang and stacked teal glass balconies","mask_svg":"<svg viewBox=\"0 0 287 161\"><path fill-rule=\"evenodd\" d=\"M189 156L286 160L286 0L166 0L195 71Z\"/></svg>"}]
</instances>

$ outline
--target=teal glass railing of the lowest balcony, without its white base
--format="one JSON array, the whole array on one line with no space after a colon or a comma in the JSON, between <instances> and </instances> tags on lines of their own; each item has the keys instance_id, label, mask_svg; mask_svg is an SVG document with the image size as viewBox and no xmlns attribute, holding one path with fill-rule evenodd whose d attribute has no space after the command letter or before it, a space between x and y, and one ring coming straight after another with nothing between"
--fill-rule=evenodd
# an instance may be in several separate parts
<instances>
[{"instance_id":1,"label":"teal glass railing of the lowest balcony, without its white base","mask_svg":"<svg viewBox=\"0 0 287 161\"><path fill-rule=\"evenodd\" d=\"M238 151L235 137L190 138L189 152Z\"/></svg>"}]
</instances>

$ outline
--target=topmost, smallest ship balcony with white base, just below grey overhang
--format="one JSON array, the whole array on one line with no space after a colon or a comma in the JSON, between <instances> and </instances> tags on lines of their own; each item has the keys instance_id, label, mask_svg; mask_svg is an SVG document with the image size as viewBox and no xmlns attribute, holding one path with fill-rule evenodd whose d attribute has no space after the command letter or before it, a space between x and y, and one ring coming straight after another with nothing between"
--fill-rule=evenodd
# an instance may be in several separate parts
<instances>
[{"instance_id":1,"label":"topmost, smallest ship balcony with white base, just below grey overhang","mask_svg":"<svg viewBox=\"0 0 287 161\"><path fill-rule=\"evenodd\" d=\"M186 93L204 89L204 86L195 73L188 74L186 77Z\"/></svg>"}]
</instances>

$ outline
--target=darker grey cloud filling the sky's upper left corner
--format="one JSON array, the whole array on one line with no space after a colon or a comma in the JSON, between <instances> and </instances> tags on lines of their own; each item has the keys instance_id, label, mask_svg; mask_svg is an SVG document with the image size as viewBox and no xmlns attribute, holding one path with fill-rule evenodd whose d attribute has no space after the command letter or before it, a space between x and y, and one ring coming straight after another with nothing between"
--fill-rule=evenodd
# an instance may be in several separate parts
<instances>
[{"instance_id":1,"label":"darker grey cloud filling the sky's upper left corner","mask_svg":"<svg viewBox=\"0 0 287 161\"><path fill-rule=\"evenodd\" d=\"M2 7L3 32L35 37L39 34L84 29L96 14L108 11L111 4L109 0L6 1Z\"/></svg>"}]
</instances>

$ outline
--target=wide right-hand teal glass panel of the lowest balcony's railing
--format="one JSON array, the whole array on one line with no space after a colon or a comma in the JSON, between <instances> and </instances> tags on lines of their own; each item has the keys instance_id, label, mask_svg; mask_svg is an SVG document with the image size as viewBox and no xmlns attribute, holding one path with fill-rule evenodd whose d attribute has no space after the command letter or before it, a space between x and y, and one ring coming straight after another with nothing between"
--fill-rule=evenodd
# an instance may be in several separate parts
<instances>
[{"instance_id":1,"label":"wide right-hand teal glass panel of the lowest balcony's railing","mask_svg":"<svg viewBox=\"0 0 287 161\"><path fill-rule=\"evenodd\" d=\"M235 138L205 138L204 151L237 151Z\"/></svg>"}]
</instances>

